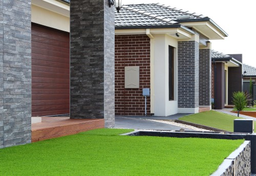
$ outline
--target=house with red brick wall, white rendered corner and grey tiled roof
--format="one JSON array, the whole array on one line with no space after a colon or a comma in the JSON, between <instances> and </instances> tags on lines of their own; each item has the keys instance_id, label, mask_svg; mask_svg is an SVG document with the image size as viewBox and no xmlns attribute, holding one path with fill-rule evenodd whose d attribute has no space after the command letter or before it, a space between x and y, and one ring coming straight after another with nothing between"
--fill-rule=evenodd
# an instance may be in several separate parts
<instances>
[{"instance_id":1,"label":"house with red brick wall, white rendered corner and grey tiled roof","mask_svg":"<svg viewBox=\"0 0 256 176\"><path fill-rule=\"evenodd\" d=\"M143 88L151 90L147 115L211 108L209 40L227 34L209 17L159 4L125 5L115 13L115 34L116 115L144 115ZM125 81L131 67L139 73Z\"/></svg>"}]
</instances>

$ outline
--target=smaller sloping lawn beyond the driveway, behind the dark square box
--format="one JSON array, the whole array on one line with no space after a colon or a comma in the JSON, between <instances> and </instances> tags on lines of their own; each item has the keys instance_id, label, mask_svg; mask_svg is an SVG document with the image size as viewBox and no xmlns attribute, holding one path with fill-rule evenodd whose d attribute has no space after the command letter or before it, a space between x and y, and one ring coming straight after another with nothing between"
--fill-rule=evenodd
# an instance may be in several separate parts
<instances>
[{"instance_id":1,"label":"smaller sloping lawn beyond the driveway, behind the dark square box","mask_svg":"<svg viewBox=\"0 0 256 176\"><path fill-rule=\"evenodd\" d=\"M211 110L207 112L184 116L179 119L233 132L234 119L242 118ZM254 129L256 129L255 127L256 123L254 123Z\"/></svg>"}]
</instances>

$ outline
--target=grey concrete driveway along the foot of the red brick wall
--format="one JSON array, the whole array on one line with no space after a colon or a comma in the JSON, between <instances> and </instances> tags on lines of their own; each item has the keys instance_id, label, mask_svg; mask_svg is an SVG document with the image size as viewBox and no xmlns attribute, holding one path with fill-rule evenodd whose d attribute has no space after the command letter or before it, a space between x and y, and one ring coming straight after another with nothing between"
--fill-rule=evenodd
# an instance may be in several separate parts
<instances>
[{"instance_id":1,"label":"grey concrete driveway along the foot of the red brick wall","mask_svg":"<svg viewBox=\"0 0 256 176\"><path fill-rule=\"evenodd\" d=\"M153 122L146 119L157 119L157 120L166 120L166 119L178 119L179 117L185 116L185 114L178 114L168 116L168 117L142 117L142 116L116 116L115 117L115 128L125 128L125 129L153 129L153 130L180 130L180 126L165 124L161 122ZM185 130L191 130L184 128Z\"/></svg>"}]
</instances>

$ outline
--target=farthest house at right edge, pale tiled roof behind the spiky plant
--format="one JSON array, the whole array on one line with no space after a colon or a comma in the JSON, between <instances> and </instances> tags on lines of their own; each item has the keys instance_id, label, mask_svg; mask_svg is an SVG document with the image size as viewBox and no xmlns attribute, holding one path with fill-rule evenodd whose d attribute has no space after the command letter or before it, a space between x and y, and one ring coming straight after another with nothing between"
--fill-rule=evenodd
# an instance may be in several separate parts
<instances>
[{"instance_id":1,"label":"farthest house at right edge, pale tiled roof behind the spiky plant","mask_svg":"<svg viewBox=\"0 0 256 176\"><path fill-rule=\"evenodd\" d=\"M252 98L256 100L256 68L243 64L243 91L250 92L250 79L253 84Z\"/></svg>"}]
</instances>

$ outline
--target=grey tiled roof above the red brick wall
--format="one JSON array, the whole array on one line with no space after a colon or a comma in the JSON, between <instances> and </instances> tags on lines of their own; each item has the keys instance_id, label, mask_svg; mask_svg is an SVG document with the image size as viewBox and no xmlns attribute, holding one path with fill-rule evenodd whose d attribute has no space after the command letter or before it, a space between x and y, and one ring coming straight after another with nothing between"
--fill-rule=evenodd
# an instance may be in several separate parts
<instances>
[{"instance_id":1,"label":"grey tiled roof above the red brick wall","mask_svg":"<svg viewBox=\"0 0 256 176\"><path fill-rule=\"evenodd\" d=\"M199 18L208 17L160 4L123 5L119 13L115 11L115 26L170 26L182 19Z\"/></svg>"}]
</instances>

